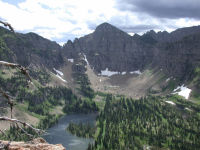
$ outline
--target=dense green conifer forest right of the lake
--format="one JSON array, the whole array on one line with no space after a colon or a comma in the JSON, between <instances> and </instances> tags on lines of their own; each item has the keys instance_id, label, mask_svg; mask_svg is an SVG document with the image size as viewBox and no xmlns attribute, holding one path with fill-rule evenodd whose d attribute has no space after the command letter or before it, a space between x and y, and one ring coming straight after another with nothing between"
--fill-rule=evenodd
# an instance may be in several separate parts
<instances>
[{"instance_id":1,"label":"dense green conifer forest right of the lake","mask_svg":"<svg viewBox=\"0 0 200 150\"><path fill-rule=\"evenodd\" d=\"M165 100L174 100L176 106ZM192 111L186 110L190 108ZM195 150L200 147L200 106L173 96L132 100L107 96L97 118L95 143L88 150Z\"/></svg>"}]
</instances>

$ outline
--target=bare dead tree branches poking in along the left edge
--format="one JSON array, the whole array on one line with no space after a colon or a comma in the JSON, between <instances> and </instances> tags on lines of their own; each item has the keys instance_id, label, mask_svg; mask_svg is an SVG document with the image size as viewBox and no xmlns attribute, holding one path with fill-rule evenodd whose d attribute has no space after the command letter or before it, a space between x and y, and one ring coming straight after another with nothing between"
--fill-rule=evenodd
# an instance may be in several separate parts
<instances>
[{"instance_id":1,"label":"bare dead tree branches poking in along the left edge","mask_svg":"<svg viewBox=\"0 0 200 150\"><path fill-rule=\"evenodd\" d=\"M8 27L12 32L15 32L14 31L14 28L7 22L3 22L3 21L0 21L1 24L3 24L5 27ZM18 69L25 77L26 77L26 81L28 82L28 84L32 83L32 79L28 73L28 69L19 65L19 64L15 64L15 63L9 63L9 62L6 62L6 61L0 61L0 65L3 65L3 66L6 66L6 67L11 67L11 68L16 68ZM20 121L18 119L13 119L13 107L15 105L14 103L14 99L9 96L2 88L0 88L0 94L7 99L7 103L10 107L10 111L11 111L11 117L5 117L5 116L0 116L0 121L8 121L8 122L11 122L11 123L14 123L16 125L16 127L18 129L20 129L24 134L26 134L27 136L29 137L33 137L33 135L27 133L23 128L22 126L25 128L25 127L28 127L30 129L32 129L33 131L35 131L37 134L41 134L41 133L44 133L43 130L40 130L40 129L37 129L37 128L34 128L32 125L26 123L26 122L23 122L23 121ZM3 135L6 136L6 133L2 130L0 130L0 133L2 133Z\"/></svg>"}]
</instances>

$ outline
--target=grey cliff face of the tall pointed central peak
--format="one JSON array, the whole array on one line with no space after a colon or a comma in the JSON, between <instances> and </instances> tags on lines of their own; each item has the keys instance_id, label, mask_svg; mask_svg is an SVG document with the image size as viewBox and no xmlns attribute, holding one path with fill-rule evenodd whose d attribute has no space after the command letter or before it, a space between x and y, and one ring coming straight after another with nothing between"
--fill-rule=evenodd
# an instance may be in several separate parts
<instances>
[{"instance_id":1,"label":"grey cliff face of the tall pointed central peak","mask_svg":"<svg viewBox=\"0 0 200 150\"><path fill-rule=\"evenodd\" d=\"M84 53L92 68L97 72L109 68L112 71L133 71L150 63L150 46L133 39L116 27L103 23L94 33L67 42L63 47L70 57Z\"/></svg>"}]
</instances>

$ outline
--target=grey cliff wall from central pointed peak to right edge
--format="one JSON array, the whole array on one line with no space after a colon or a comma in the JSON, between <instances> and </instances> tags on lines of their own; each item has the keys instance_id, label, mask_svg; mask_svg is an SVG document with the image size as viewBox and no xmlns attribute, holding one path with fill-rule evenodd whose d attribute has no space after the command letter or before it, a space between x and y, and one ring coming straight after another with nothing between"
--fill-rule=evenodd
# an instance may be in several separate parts
<instances>
[{"instance_id":1,"label":"grey cliff wall from central pointed peak to right edge","mask_svg":"<svg viewBox=\"0 0 200 150\"><path fill-rule=\"evenodd\" d=\"M172 33L154 32L130 36L103 23L89 35L68 41L63 53L75 58L84 53L96 72L129 72L146 66L159 67L166 74L183 78L199 64L200 26L178 29Z\"/></svg>"}]
</instances>

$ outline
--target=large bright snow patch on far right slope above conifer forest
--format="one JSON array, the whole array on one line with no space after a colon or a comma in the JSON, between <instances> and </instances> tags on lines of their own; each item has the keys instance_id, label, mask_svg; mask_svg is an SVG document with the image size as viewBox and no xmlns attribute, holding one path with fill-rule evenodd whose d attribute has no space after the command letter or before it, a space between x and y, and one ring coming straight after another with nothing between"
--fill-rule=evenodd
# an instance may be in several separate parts
<instances>
[{"instance_id":1,"label":"large bright snow patch on far right slope above conifer forest","mask_svg":"<svg viewBox=\"0 0 200 150\"><path fill-rule=\"evenodd\" d=\"M173 90L174 93L172 93L172 94L178 94L178 95L183 96L186 99L188 99L189 96L190 96L191 91L192 91L191 89L187 88L183 84L181 86L178 86L176 89L174 89Z\"/></svg>"}]
</instances>

